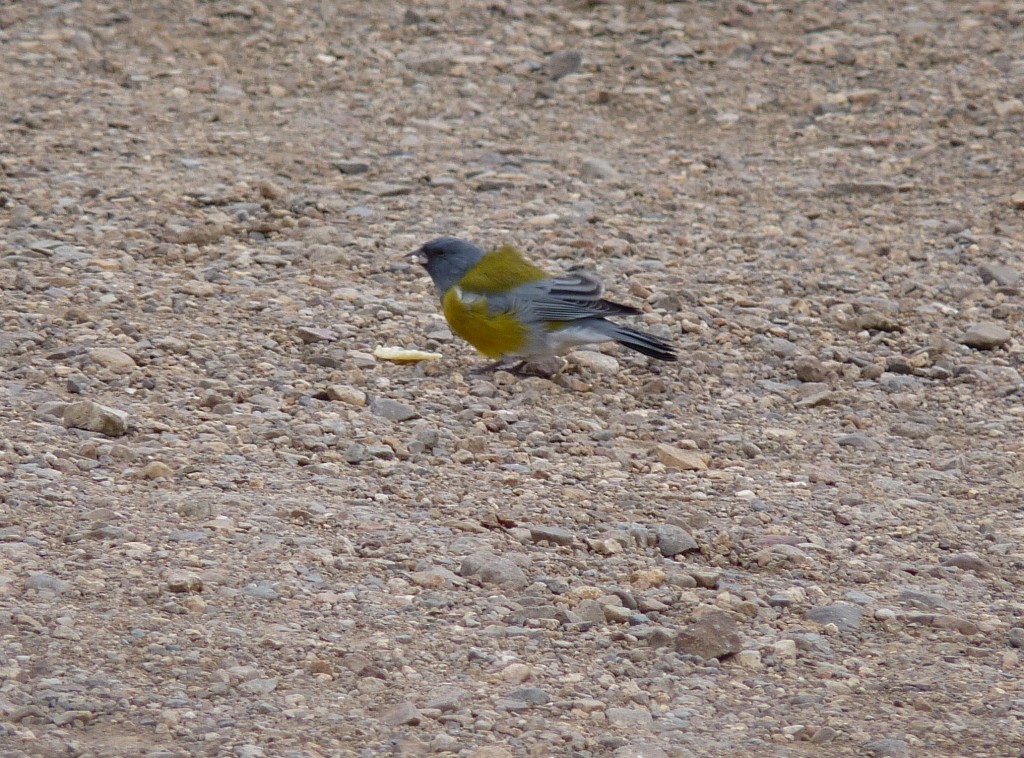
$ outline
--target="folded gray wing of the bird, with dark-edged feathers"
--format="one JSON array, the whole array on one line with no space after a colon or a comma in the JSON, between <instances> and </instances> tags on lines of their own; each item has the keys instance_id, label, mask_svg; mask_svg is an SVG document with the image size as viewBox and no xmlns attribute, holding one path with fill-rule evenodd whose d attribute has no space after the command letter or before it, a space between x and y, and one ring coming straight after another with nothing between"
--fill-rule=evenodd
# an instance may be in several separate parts
<instances>
[{"instance_id":1,"label":"folded gray wing of the bird, with dark-edged feathers","mask_svg":"<svg viewBox=\"0 0 1024 758\"><path fill-rule=\"evenodd\" d=\"M578 321L602 315L635 315L630 305L602 300L604 285L589 271L570 271L489 296L492 310L514 310L524 321Z\"/></svg>"}]
</instances>

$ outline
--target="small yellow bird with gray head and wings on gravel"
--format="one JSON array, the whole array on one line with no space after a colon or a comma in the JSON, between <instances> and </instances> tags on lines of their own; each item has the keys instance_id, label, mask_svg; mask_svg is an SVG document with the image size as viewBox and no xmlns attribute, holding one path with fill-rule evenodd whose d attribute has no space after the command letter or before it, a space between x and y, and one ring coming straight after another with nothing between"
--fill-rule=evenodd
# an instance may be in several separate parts
<instances>
[{"instance_id":1,"label":"small yellow bird with gray head and wings on gravel","mask_svg":"<svg viewBox=\"0 0 1024 758\"><path fill-rule=\"evenodd\" d=\"M604 285L588 271L551 277L505 245L484 252L457 237L440 237L410 253L427 269L452 331L497 363L478 372L512 371L593 342L614 341L658 361L675 361L665 340L608 321L637 315L631 305L602 299Z\"/></svg>"}]
</instances>

